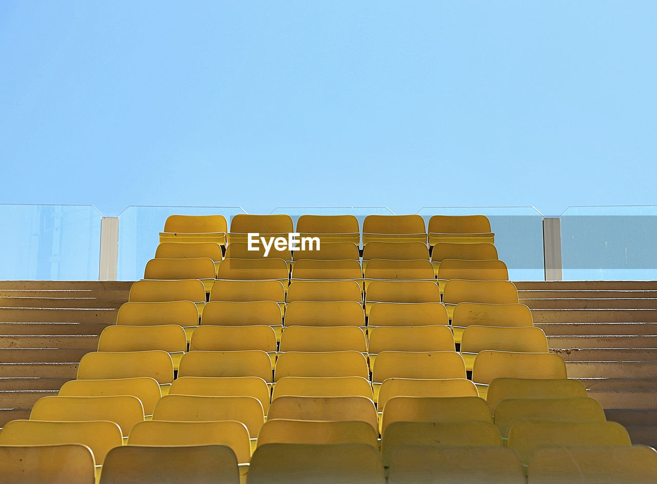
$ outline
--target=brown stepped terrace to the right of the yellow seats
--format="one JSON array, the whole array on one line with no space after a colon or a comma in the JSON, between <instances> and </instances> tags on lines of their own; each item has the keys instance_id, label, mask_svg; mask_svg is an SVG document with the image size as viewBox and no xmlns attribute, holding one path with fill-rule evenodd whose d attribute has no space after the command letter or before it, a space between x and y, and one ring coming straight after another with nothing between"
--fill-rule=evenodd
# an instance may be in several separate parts
<instances>
[{"instance_id":1,"label":"brown stepped terrace to the right of the yellow seats","mask_svg":"<svg viewBox=\"0 0 657 484\"><path fill-rule=\"evenodd\" d=\"M632 442L657 444L657 282L516 282L535 326Z\"/></svg>"}]
</instances>

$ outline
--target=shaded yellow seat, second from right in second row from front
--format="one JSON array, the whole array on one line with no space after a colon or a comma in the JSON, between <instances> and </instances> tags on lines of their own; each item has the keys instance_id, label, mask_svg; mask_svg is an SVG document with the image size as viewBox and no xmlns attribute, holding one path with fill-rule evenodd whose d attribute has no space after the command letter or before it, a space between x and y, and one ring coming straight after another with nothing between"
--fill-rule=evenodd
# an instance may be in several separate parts
<instances>
[{"instance_id":1,"label":"shaded yellow seat, second from right in second row from front","mask_svg":"<svg viewBox=\"0 0 657 484\"><path fill-rule=\"evenodd\" d=\"M381 436L381 455L391 464L397 449L417 447L501 447L499 430L490 422L393 422ZM417 446L417 447L415 447ZM445 476L447 477L447 476ZM483 481L487 482L487 481Z\"/></svg>"}]
</instances>

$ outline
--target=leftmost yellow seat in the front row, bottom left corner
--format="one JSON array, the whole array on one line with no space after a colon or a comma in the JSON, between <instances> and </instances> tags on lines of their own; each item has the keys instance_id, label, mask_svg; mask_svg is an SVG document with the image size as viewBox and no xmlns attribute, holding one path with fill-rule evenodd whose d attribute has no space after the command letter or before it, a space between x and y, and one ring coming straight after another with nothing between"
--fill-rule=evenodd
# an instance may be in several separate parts
<instances>
[{"instance_id":1,"label":"leftmost yellow seat in the front row, bottom left corner","mask_svg":"<svg viewBox=\"0 0 657 484\"><path fill-rule=\"evenodd\" d=\"M22 484L95 484L89 447L67 445L0 446L0 481Z\"/></svg>"}]
</instances>

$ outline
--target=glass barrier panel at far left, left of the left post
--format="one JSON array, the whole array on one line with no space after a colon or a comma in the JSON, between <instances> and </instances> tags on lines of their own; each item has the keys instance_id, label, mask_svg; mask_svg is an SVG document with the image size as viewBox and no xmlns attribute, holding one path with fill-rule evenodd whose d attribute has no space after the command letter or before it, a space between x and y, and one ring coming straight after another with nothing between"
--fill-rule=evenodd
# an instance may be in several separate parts
<instances>
[{"instance_id":1,"label":"glass barrier panel at far left, left of the left post","mask_svg":"<svg viewBox=\"0 0 657 484\"><path fill-rule=\"evenodd\" d=\"M101 217L91 205L0 204L0 279L98 280Z\"/></svg>"}]
</instances>

